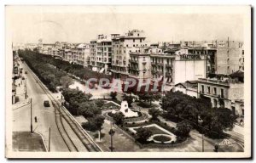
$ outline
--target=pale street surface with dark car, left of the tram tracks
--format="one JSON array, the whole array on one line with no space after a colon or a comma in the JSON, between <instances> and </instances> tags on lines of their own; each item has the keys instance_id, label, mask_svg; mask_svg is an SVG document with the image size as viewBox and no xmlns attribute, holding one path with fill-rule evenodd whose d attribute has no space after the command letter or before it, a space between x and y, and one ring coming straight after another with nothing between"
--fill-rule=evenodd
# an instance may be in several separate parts
<instances>
[{"instance_id":1,"label":"pale street surface with dark car, left of the tram tracks","mask_svg":"<svg viewBox=\"0 0 256 163\"><path fill-rule=\"evenodd\" d=\"M67 144L64 139L61 137L61 133L59 132L59 128L56 125L55 120L55 108L52 104L50 107L44 107L44 100L49 100L49 97L44 92L42 87L38 85L26 65L20 63L21 67L23 67L23 76L26 78L26 90L28 98L32 98L32 128L33 132L38 132L44 138L44 142L46 144L46 148L50 151L58 151L58 152L68 152ZM27 74L24 72L27 71ZM20 81L19 81L20 82ZM18 83L19 83L18 82ZM25 87L25 81L23 81L20 87ZM17 83L17 84L18 84ZM50 101L50 100L49 100ZM20 107L17 110L13 110L13 131L30 131L31 124L31 106L30 104ZM35 122L34 117L37 116L38 122ZM77 142L78 146L80 146L79 151L87 151L84 147L81 148L81 143L77 137L74 137L75 133L72 129L67 125L67 121L62 119L65 124L64 127L67 129L68 135L73 135L72 140ZM50 127L50 145L49 145L49 127Z\"/></svg>"}]
</instances>

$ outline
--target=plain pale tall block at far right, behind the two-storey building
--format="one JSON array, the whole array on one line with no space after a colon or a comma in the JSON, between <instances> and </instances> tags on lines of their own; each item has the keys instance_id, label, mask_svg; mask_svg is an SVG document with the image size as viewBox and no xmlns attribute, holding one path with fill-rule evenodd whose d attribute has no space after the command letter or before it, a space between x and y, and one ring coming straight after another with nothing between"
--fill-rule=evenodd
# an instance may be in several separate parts
<instances>
[{"instance_id":1,"label":"plain pale tall block at far right, behind the two-storey building","mask_svg":"<svg viewBox=\"0 0 256 163\"><path fill-rule=\"evenodd\" d=\"M217 45L217 74L230 75L244 70L244 50L242 42L225 41Z\"/></svg>"}]
</instances>

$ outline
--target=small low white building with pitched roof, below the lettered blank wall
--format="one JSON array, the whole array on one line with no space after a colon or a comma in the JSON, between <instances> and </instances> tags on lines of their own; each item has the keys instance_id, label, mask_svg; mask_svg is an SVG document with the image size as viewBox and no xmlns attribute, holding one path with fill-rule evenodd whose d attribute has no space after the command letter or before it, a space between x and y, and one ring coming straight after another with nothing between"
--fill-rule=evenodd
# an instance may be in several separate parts
<instances>
[{"instance_id":1,"label":"small low white building with pitched roof, below the lettered blank wall","mask_svg":"<svg viewBox=\"0 0 256 163\"><path fill-rule=\"evenodd\" d=\"M197 84L197 81L180 82L175 85L173 91L179 91L191 97L198 98Z\"/></svg>"}]
</instances>

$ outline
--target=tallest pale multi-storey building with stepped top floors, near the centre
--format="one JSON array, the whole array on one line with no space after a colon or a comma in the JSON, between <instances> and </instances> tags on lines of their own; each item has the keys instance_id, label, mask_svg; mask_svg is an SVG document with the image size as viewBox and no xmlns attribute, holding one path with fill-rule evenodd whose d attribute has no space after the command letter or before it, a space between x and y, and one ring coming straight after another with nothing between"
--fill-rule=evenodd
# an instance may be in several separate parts
<instances>
[{"instance_id":1,"label":"tallest pale multi-storey building with stepped top floors, near the centre","mask_svg":"<svg viewBox=\"0 0 256 163\"><path fill-rule=\"evenodd\" d=\"M125 80L129 76L130 53L141 53L149 43L144 31L133 30L123 36L113 37L112 69L113 77Z\"/></svg>"}]
</instances>

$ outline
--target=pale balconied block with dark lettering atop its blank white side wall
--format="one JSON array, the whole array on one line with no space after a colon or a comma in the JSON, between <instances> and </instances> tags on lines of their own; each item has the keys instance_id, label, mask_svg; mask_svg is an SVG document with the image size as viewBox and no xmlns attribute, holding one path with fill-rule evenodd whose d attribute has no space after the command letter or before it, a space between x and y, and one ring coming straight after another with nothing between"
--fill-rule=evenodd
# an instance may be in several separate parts
<instances>
[{"instance_id":1,"label":"pale balconied block with dark lettering atop its blank white side wall","mask_svg":"<svg viewBox=\"0 0 256 163\"><path fill-rule=\"evenodd\" d=\"M164 82L165 91L170 91L177 83L206 77L206 65L205 53L177 48L163 51L163 48L153 45L143 52L130 53L128 67L129 76Z\"/></svg>"}]
</instances>

